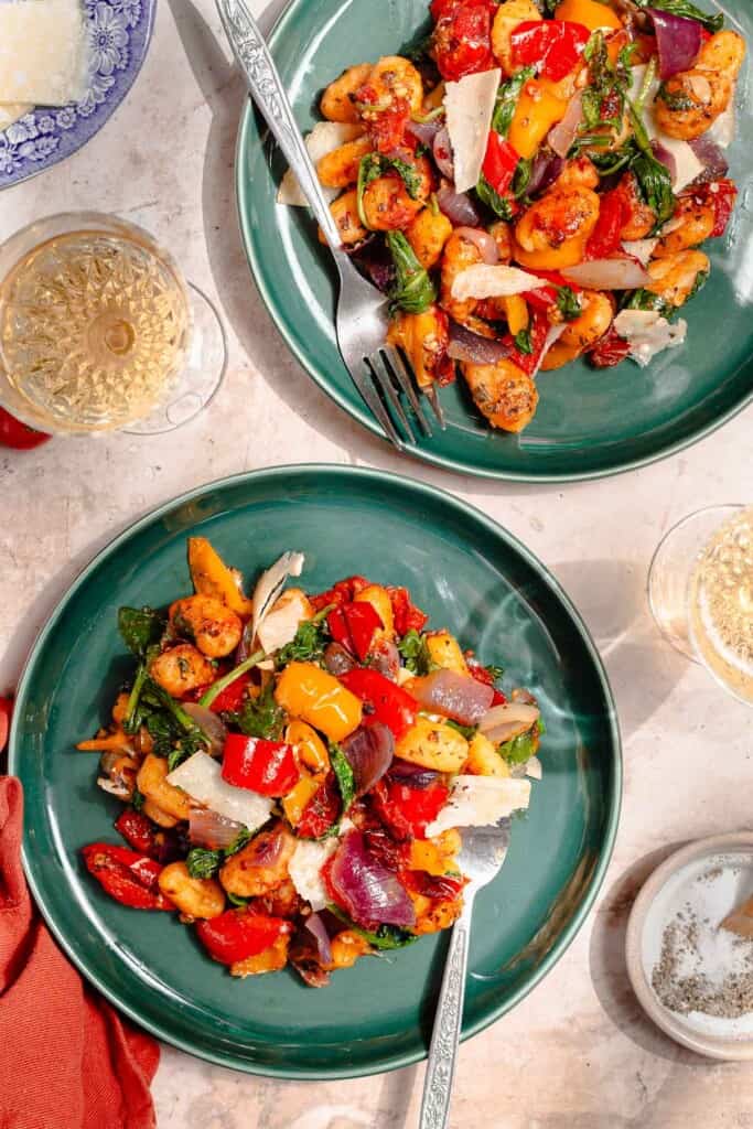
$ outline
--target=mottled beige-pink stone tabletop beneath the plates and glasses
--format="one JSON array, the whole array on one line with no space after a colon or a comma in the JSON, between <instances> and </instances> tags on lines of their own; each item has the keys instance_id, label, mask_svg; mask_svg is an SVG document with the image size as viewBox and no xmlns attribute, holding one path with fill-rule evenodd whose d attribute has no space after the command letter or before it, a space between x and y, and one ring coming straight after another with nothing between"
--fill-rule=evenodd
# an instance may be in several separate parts
<instances>
[{"instance_id":1,"label":"mottled beige-pink stone tabletop beneath the plates and glasses","mask_svg":"<svg viewBox=\"0 0 753 1129\"><path fill-rule=\"evenodd\" d=\"M257 0L257 10L263 5ZM235 220L243 86L212 0L160 0L126 103L80 154L0 198L0 240L69 209L119 212L167 244L219 304L227 380L166 437L0 448L0 689L78 568L175 493L233 472L329 461L406 472L469 499L562 580L602 648L625 753L624 807L597 908L553 972L461 1052L453 1129L750 1129L751 1067L712 1064L643 1018L624 972L625 917L672 846L751 825L752 715L657 634L646 572L662 534L701 506L753 497L753 410L655 466L576 485L494 485L409 463L330 403L287 355L254 290ZM269 11L264 14L269 20ZM265 26L269 26L266 24ZM741 787L743 781L743 787ZM423 1068L291 1084L165 1048L159 1129L403 1129Z\"/></svg>"}]
</instances>

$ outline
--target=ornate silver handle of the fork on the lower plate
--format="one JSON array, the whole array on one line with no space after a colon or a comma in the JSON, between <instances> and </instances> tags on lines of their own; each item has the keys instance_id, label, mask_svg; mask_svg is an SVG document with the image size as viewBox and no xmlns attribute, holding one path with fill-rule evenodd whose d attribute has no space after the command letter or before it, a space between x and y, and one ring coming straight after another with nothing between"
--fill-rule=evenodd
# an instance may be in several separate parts
<instances>
[{"instance_id":1,"label":"ornate silver handle of the fork on the lower plate","mask_svg":"<svg viewBox=\"0 0 753 1129\"><path fill-rule=\"evenodd\" d=\"M466 893L463 912L455 922L447 949L423 1082L419 1129L447 1129L449 1122L449 1100L463 1024L472 916L473 898L469 899Z\"/></svg>"}]
</instances>

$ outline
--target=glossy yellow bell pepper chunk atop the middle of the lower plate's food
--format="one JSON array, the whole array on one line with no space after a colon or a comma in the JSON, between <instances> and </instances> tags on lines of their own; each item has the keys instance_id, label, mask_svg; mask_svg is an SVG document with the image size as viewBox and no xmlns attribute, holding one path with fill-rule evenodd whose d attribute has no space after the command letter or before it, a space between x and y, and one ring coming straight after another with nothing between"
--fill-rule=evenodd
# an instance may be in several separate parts
<instances>
[{"instance_id":1,"label":"glossy yellow bell pepper chunk atop the middle of the lower plate's food","mask_svg":"<svg viewBox=\"0 0 753 1129\"><path fill-rule=\"evenodd\" d=\"M308 721L330 741L344 741L361 724L362 708L356 694L313 663L289 663L274 698L291 717Z\"/></svg>"}]
</instances>

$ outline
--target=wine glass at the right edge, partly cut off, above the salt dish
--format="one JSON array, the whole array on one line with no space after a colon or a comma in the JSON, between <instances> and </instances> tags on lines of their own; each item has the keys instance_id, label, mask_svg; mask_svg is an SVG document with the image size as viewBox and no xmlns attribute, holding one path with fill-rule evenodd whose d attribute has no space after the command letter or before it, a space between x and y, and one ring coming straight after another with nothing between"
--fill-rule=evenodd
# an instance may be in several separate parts
<instances>
[{"instance_id":1,"label":"wine glass at the right edge, partly cut off, above the salt dish","mask_svg":"<svg viewBox=\"0 0 753 1129\"><path fill-rule=\"evenodd\" d=\"M648 574L659 631L753 706L753 507L711 506L678 522Z\"/></svg>"}]
</instances>

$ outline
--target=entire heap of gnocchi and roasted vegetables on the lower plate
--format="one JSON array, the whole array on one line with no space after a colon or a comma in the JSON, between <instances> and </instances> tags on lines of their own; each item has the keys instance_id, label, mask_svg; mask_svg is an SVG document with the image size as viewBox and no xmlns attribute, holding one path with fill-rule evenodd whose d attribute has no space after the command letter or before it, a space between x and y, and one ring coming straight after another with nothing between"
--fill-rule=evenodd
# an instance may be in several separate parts
<instances>
[{"instance_id":1,"label":"entire heap of gnocchi and roasted vegetables on the lower plate","mask_svg":"<svg viewBox=\"0 0 753 1129\"><path fill-rule=\"evenodd\" d=\"M312 593L288 584L305 564L289 552L246 596L205 539L189 562L193 595L119 613L133 675L79 749L122 804L121 842L84 848L90 875L123 905L176 912L238 978L291 965L322 987L449 928L455 820L527 806L533 697L429 630L400 575Z\"/></svg>"}]
</instances>

